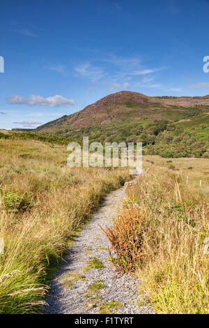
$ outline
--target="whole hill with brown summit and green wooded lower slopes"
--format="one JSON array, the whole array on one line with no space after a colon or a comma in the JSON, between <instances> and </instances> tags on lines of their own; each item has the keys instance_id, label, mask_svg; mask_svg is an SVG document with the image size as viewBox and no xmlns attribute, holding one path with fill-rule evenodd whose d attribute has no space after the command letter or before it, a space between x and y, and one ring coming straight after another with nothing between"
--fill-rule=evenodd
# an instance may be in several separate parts
<instances>
[{"instance_id":1,"label":"whole hill with brown summit and green wooded lower slopes","mask_svg":"<svg viewBox=\"0 0 209 328\"><path fill-rule=\"evenodd\" d=\"M144 154L209 157L209 96L110 94L75 114L36 129L82 142L142 142Z\"/></svg>"}]
</instances>

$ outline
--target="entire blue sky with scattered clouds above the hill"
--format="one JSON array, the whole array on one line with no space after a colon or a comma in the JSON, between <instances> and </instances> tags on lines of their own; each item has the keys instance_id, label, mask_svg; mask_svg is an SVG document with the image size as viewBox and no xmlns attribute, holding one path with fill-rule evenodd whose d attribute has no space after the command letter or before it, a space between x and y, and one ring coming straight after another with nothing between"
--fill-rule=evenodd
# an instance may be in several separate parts
<instances>
[{"instance_id":1,"label":"entire blue sky with scattered clouds above the hill","mask_svg":"<svg viewBox=\"0 0 209 328\"><path fill-rule=\"evenodd\" d=\"M0 128L107 94L209 94L209 0L1 0Z\"/></svg>"}]
</instances>

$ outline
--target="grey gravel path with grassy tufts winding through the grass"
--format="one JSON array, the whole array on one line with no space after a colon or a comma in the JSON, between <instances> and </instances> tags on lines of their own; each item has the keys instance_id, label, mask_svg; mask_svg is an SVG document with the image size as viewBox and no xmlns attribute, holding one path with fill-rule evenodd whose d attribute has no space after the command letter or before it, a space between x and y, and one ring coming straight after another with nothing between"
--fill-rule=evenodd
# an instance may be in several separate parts
<instances>
[{"instance_id":1,"label":"grey gravel path with grassy tufts winding through the grass","mask_svg":"<svg viewBox=\"0 0 209 328\"><path fill-rule=\"evenodd\" d=\"M111 225L124 196L121 188L105 197L76 238L51 283L45 313L153 313L148 306L137 304L139 280L127 274L117 275L107 260L109 241L98 226Z\"/></svg>"}]
</instances>

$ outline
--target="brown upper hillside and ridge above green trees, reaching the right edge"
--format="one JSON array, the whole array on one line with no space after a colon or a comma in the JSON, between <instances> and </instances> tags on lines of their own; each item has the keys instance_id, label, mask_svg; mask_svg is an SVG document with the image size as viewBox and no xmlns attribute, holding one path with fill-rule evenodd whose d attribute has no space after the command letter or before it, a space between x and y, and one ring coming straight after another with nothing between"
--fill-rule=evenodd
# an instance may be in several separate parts
<instances>
[{"instance_id":1,"label":"brown upper hillside and ridge above green trees, reaching the right edge","mask_svg":"<svg viewBox=\"0 0 209 328\"><path fill-rule=\"evenodd\" d=\"M65 115L36 131L55 135L71 135L82 128L109 126L123 122L137 122L141 119L171 119L178 121L187 118L190 107L209 108L209 96L205 97L148 97L132 91L110 94L83 110ZM209 111L208 108L202 110Z\"/></svg>"}]
</instances>

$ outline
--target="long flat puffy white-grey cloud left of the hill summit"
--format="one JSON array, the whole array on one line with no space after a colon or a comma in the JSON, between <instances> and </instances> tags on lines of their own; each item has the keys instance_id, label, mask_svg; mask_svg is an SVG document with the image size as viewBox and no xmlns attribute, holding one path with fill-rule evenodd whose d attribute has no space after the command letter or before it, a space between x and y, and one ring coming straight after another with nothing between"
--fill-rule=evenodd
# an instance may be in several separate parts
<instances>
[{"instance_id":1,"label":"long flat puffy white-grey cloud left of the hill summit","mask_svg":"<svg viewBox=\"0 0 209 328\"><path fill-rule=\"evenodd\" d=\"M59 106L75 105L75 100L67 99L60 95L50 96L48 98L43 98L41 96L34 96L34 95L31 95L29 98L24 98L22 96L14 95L8 97L8 103L12 105L28 105L28 106L40 105L40 106L59 107Z\"/></svg>"}]
</instances>

